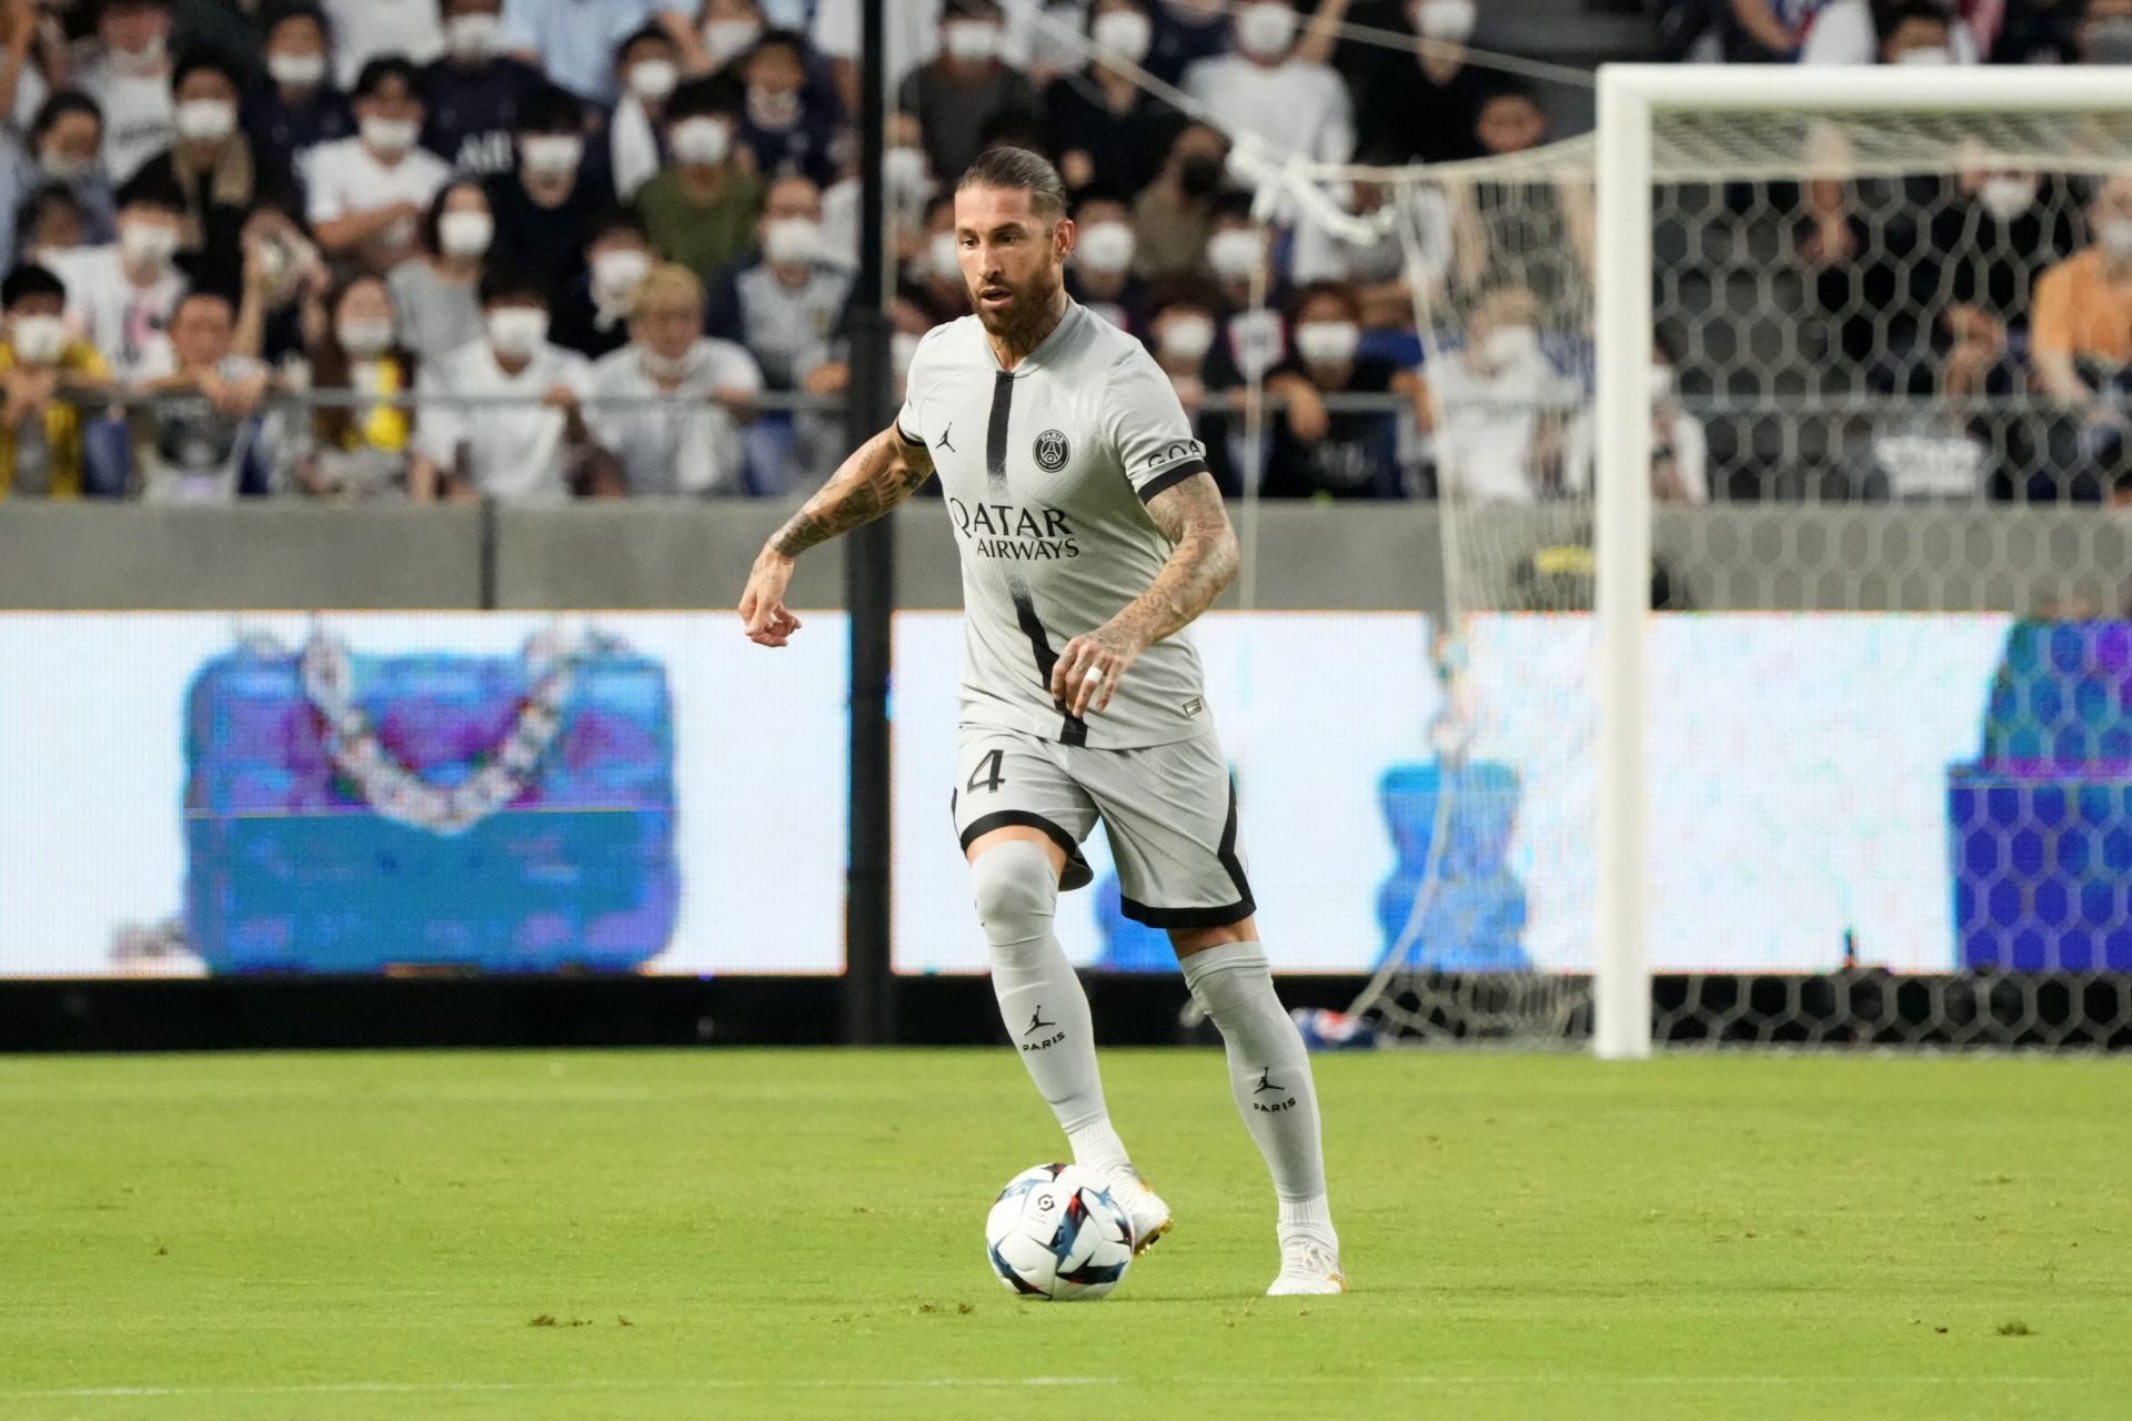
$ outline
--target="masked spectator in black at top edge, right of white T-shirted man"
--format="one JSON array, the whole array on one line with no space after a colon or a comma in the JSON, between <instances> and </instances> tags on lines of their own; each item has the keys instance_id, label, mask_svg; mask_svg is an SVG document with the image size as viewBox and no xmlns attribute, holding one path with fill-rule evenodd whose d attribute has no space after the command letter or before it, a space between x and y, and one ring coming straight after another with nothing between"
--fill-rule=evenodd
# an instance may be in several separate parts
<instances>
[{"instance_id":1,"label":"masked spectator in black at top edge, right of white T-shirted man","mask_svg":"<svg viewBox=\"0 0 2132 1421\"><path fill-rule=\"evenodd\" d=\"M1356 132L1382 162L1458 162L1480 158L1480 109L1490 81L1467 64L1465 43L1480 15L1475 0L1416 0L1411 60L1371 49L1356 77Z\"/></svg>"}]
</instances>

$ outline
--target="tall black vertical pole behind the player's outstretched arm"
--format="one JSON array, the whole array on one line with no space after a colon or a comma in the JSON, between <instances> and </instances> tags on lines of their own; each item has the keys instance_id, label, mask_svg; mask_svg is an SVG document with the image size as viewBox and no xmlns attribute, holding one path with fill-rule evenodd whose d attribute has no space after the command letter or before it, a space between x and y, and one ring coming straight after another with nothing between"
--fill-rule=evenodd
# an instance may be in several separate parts
<instances>
[{"instance_id":1,"label":"tall black vertical pole behind the player's outstretched arm","mask_svg":"<svg viewBox=\"0 0 2132 1421\"><path fill-rule=\"evenodd\" d=\"M859 28L859 285L851 311L851 388L844 430L857 447L895 418L889 369L887 232L881 179L887 85L881 62L885 0L863 0ZM889 631L895 605L895 516L855 528L844 550L851 616L851 869L844 897L844 1040L895 1040L889 971Z\"/></svg>"}]
</instances>

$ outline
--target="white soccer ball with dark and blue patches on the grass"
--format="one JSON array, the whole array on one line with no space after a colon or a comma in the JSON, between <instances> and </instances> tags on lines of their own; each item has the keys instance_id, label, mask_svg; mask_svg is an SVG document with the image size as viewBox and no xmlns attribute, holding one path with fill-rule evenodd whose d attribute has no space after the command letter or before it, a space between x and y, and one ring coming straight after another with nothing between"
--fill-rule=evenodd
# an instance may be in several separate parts
<instances>
[{"instance_id":1,"label":"white soccer ball with dark and blue patches on the grass","mask_svg":"<svg viewBox=\"0 0 2132 1421\"><path fill-rule=\"evenodd\" d=\"M991 1204L985 1257L1000 1285L1049 1302L1094 1302L1132 1263L1132 1219L1079 1165L1023 1170Z\"/></svg>"}]
</instances>

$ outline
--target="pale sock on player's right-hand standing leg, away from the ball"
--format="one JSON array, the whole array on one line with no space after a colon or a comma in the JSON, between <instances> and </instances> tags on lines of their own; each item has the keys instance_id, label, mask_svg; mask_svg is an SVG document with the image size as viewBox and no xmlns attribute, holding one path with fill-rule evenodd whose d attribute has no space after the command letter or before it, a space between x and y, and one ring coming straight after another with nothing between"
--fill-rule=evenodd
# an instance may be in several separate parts
<instances>
[{"instance_id":1,"label":"pale sock on player's right-hand standing leg, away from the ball","mask_svg":"<svg viewBox=\"0 0 2132 1421\"><path fill-rule=\"evenodd\" d=\"M1296 1210L1296 1223L1322 1221L1330 1234L1311 1057L1273 991L1266 950L1256 942L1228 942L1192 952L1183 971L1192 999L1222 1029L1237 1112L1273 1172L1281 1221L1290 1223L1290 1210Z\"/></svg>"}]
</instances>

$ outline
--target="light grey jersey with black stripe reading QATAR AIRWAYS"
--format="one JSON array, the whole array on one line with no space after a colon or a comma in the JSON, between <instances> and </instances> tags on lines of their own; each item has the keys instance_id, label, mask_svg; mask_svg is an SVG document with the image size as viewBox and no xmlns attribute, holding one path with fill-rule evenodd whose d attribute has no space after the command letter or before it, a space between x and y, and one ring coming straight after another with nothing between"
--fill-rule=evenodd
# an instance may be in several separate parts
<instances>
[{"instance_id":1,"label":"light grey jersey with black stripe reading QATAR AIRWAYS","mask_svg":"<svg viewBox=\"0 0 2132 1421\"><path fill-rule=\"evenodd\" d=\"M940 473L962 552L962 720L1068 746L1128 750L1207 724L1185 631L1147 648L1085 718L1051 699L1060 648L1096 631L1168 562L1147 499L1207 469L1153 356L1068 305L1002 371L974 315L936 326L910 360L902 437Z\"/></svg>"}]
</instances>

